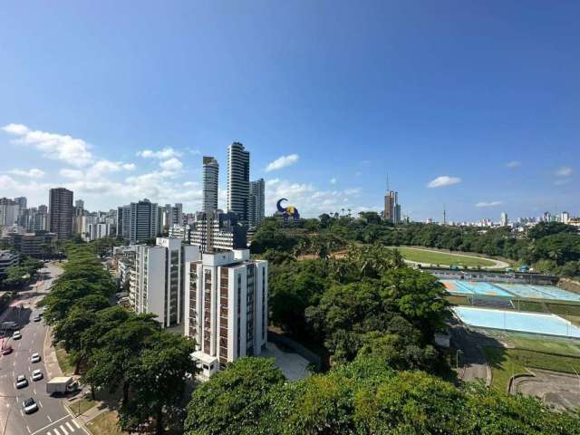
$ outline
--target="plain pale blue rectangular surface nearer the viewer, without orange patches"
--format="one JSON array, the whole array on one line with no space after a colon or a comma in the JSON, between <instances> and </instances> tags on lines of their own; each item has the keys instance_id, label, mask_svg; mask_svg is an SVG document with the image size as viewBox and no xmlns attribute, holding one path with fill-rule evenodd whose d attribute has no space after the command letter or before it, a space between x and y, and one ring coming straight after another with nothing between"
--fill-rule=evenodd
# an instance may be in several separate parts
<instances>
[{"instance_id":1,"label":"plain pale blue rectangular surface nearer the viewer, without orange patches","mask_svg":"<svg viewBox=\"0 0 580 435\"><path fill-rule=\"evenodd\" d=\"M580 328L555 314L518 313L468 306L456 306L453 311L464 324L471 326L580 338Z\"/></svg>"}]
</instances>

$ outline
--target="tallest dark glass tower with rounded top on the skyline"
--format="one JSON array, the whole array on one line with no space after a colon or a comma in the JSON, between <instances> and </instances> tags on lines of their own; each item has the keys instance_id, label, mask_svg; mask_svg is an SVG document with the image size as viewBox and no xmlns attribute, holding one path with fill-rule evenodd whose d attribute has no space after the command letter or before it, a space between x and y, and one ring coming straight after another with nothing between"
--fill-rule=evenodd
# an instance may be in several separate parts
<instances>
[{"instance_id":1,"label":"tallest dark glass tower with rounded top on the skyline","mask_svg":"<svg viewBox=\"0 0 580 435\"><path fill-rule=\"evenodd\" d=\"M227 211L237 213L243 223L249 218L249 194L250 153L234 142L227 148Z\"/></svg>"}]
</instances>

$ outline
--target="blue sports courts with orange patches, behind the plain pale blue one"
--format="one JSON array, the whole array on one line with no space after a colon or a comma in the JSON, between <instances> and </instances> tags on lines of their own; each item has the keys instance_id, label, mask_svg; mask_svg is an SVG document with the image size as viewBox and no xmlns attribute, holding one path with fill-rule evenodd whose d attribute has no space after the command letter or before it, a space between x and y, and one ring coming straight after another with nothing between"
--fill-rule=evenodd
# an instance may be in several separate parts
<instances>
[{"instance_id":1,"label":"blue sports courts with orange patches, behind the plain pale blue one","mask_svg":"<svg viewBox=\"0 0 580 435\"><path fill-rule=\"evenodd\" d=\"M580 302L580 295L568 292L554 285L492 284L459 279L441 279L441 283L445 285L449 293L461 295L488 295L514 298L529 297Z\"/></svg>"}]
</instances>

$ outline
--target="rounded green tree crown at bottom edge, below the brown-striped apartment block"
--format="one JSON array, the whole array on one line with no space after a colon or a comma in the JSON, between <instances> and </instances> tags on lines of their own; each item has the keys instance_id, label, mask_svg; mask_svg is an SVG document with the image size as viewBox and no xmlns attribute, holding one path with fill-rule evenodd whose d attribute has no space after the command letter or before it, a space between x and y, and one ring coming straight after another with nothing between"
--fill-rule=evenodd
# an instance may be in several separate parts
<instances>
[{"instance_id":1,"label":"rounded green tree crown at bottom edge, below the brown-striped apartment block","mask_svg":"<svg viewBox=\"0 0 580 435\"><path fill-rule=\"evenodd\" d=\"M274 359L240 358L193 391L185 433L256 433L270 405L268 392L284 382Z\"/></svg>"}]
</instances>

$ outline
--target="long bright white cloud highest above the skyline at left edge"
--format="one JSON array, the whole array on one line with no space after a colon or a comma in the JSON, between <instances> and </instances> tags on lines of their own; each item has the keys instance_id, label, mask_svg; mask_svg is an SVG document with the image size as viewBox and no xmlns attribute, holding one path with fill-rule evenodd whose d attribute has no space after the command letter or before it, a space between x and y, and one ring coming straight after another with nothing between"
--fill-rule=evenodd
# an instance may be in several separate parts
<instances>
[{"instance_id":1,"label":"long bright white cloud highest above the skyline at left edge","mask_svg":"<svg viewBox=\"0 0 580 435\"><path fill-rule=\"evenodd\" d=\"M33 131L23 124L8 124L2 127L6 133L16 136L14 143L30 145L42 151L43 156L52 160L63 160L70 165L83 167L92 163L89 144L69 135Z\"/></svg>"}]
</instances>

